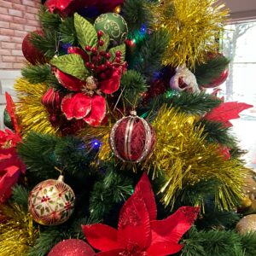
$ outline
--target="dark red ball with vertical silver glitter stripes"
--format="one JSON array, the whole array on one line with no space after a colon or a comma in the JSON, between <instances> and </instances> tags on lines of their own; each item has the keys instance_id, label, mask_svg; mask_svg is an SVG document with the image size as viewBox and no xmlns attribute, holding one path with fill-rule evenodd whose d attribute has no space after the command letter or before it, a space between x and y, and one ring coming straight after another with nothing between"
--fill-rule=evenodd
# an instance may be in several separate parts
<instances>
[{"instance_id":1,"label":"dark red ball with vertical silver glitter stripes","mask_svg":"<svg viewBox=\"0 0 256 256\"><path fill-rule=\"evenodd\" d=\"M110 147L120 160L139 163L148 157L156 141L155 132L136 112L120 119L110 131Z\"/></svg>"}]
</instances>

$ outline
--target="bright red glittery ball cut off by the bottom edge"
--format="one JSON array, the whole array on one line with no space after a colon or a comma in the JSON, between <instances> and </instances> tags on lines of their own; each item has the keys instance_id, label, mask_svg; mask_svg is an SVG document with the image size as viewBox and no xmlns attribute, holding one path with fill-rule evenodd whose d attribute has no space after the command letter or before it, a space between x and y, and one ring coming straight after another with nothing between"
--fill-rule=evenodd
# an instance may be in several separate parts
<instances>
[{"instance_id":1,"label":"bright red glittery ball cut off by the bottom edge","mask_svg":"<svg viewBox=\"0 0 256 256\"><path fill-rule=\"evenodd\" d=\"M94 256L96 253L83 240L67 239L60 241L51 249L48 256Z\"/></svg>"}]
</instances>

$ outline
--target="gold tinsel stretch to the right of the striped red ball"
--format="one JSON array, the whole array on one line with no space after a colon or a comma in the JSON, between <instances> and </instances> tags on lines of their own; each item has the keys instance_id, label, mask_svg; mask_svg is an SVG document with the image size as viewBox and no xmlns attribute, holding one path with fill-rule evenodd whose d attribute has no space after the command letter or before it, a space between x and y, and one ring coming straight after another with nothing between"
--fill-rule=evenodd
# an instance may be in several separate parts
<instances>
[{"instance_id":1,"label":"gold tinsel stretch to the right of the striped red ball","mask_svg":"<svg viewBox=\"0 0 256 256\"><path fill-rule=\"evenodd\" d=\"M224 160L218 144L207 143L203 128L195 128L194 120L174 108L161 108L152 124L157 143L151 157L143 163L143 169L154 170L153 177L159 172L165 177L160 194L166 206L174 204L185 186L213 178L222 184L216 203L231 209L236 196L242 195L241 185L247 171L238 160Z\"/></svg>"}]
</instances>

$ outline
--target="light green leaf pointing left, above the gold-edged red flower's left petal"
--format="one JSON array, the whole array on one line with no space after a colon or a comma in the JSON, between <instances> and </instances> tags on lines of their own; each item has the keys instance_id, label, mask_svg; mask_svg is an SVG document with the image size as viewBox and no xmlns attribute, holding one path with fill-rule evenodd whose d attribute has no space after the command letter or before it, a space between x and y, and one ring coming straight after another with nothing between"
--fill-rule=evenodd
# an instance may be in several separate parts
<instances>
[{"instance_id":1,"label":"light green leaf pointing left, above the gold-edged red flower's left petal","mask_svg":"<svg viewBox=\"0 0 256 256\"><path fill-rule=\"evenodd\" d=\"M59 68L62 72L68 73L73 77L85 80L90 72L84 66L84 61L80 55L70 54L53 58L50 64Z\"/></svg>"}]
</instances>

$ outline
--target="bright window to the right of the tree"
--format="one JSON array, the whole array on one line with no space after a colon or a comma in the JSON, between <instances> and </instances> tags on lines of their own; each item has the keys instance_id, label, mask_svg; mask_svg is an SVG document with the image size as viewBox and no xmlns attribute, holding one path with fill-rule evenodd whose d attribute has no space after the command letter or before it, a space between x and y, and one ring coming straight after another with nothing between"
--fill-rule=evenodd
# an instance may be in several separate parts
<instances>
[{"instance_id":1,"label":"bright window to the right of the tree","mask_svg":"<svg viewBox=\"0 0 256 256\"><path fill-rule=\"evenodd\" d=\"M226 101L252 104L233 121L234 132L247 149L248 166L256 170L256 21L230 24L225 27L222 48L230 62L230 76L221 85Z\"/></svg>"}]
</instances>

